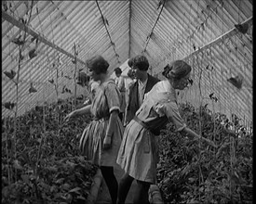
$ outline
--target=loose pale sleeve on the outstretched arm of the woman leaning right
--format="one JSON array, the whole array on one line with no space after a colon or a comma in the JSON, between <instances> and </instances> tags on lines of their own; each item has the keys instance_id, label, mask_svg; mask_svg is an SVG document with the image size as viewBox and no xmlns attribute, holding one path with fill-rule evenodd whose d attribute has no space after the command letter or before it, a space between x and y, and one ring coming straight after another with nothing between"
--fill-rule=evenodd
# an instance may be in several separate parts
<instances>
[{"instance_id":1,"label":"loose pale sleeve on the outstretched arm of the woman leaning right","mask_svg":"<svg viewBox=\"0 0 256 204\"><path fill-rule=\"evenodd\" d=\"M168 119L170 119L175 124L179 132L186 127L186 124L184 123L182 116L180 115L179 108L175 102L168 102L159 106L160 112L162 114L166 114Z\"/></svg>"}]
</instances>

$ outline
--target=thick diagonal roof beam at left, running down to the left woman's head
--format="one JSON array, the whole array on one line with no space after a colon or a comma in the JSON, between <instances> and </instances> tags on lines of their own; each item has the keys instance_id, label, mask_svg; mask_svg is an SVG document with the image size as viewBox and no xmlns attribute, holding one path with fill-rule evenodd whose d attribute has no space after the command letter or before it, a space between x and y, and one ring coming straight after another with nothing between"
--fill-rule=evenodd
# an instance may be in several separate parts
<instances>
[{"instance_id":1,"label":"thick diagonal roof beam at left, running down to the left woman's head","mask_svg":"<svg viewBox=\"0 0 256 204\"><path fill-rule=\"evenodd\" d=\"M32 36L38 38L39 41L41 41L42 43L56 49L57 51L61 52L62 54L71 57L71 58L75 58L74 55L72 55L71 53L65 51L64 49L62 49L60 46L55 45L53 43L51 43L50 41L48 41L45 37L41 36L40 33L34 32L31 28L29 28L27 25L25 25L24 23L20 22L17 19L14 19L12 16L8 15L6 11L4 11L2 9L2 18L6 19L8 22L10 22L11 24L13 24L14 26L17 26L18 28L20 28L22 31L24 32L28 32L29 34L31 34ZM86 62L84 62L83 60L76 58L76 61L86 65Z\"/></svg>"}]
</instances>

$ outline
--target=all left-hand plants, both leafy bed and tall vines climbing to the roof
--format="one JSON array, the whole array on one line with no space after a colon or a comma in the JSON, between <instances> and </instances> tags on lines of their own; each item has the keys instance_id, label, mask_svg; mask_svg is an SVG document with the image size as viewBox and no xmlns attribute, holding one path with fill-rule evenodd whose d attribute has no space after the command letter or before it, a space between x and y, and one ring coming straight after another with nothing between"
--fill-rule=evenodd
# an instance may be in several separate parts
<instances>
[{"instance_id":1,"label":"all left-hand plants, both leafy bed and tall vines climbing to the roof","mask_svg":"<svg viewBox=\"0 0 256 204\"><path fill-rule=\"evenodd\" d=\"M18 18L27 26L32 17L34 2L26 6L26 14ZM5 11L11 11L12 3L5 3ZM79 135L90 120L80 117L69 124L62 123L63 117L76 108L77 103L84 98L76 96L76 83L85 87L89 77L77 70L76 57L78 51L74 44L74 99L58 99L57 103L37 106L24 115L18 117L20 69L23 62L34 60L40 54L37 36L29 36L26 31L19 32L17 38L11 41L18 49L17 70L5 70L9 81L15 84L15 101L6 101L4 107L14 112L13 118L2 120L2 203L79 203L88 197L88 190L92 176L97 167L79 155ZM31 45L31 46L27 46ZM79 47L79 45L78 45ZM15 48L15 49L16 49ZM28 56L25 50L29 49ZM14 50L15 51L15 50ZM65 77L72 80L72 76L64 75L61 71L61 57L51 60L52 69L56 76L48 80L54 85L56 96L69 93L70 89L64 85L58 92L58 80ZM34 83L30 83L28 94L37 92ZM81 100L82 99L82 100ZM81 104L80 104L81 105Z\"/></svg>"}]
</instances>

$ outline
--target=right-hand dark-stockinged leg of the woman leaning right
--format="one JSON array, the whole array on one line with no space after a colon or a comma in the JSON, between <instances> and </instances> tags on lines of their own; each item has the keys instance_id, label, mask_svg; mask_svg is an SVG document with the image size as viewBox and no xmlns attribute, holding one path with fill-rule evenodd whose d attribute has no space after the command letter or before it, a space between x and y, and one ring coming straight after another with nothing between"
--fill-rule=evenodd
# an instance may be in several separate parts
<instances>
[{"instance_id":1,"label":"right-hand dark-stockinged leg of the woman leaning right","mask_svg":"<svg viewBox=\"0 0 256 204\"><path fill-rule=\"evenodd\" d=\"M150 185L151 185L150 183L141 182L137 180L135 195L133 197L134 204L149 204L148 190Z\"/></svg>"}]
</instances>

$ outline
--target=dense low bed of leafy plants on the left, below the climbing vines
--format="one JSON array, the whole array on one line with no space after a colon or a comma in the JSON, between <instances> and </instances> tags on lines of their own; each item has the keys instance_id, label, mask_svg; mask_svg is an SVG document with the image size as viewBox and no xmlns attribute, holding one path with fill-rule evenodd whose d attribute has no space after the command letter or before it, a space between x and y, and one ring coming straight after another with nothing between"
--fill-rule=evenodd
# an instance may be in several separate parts
<instances>
[{"instance_id":1,"label":"dense low bed of leafy plants on the left, below the climbing vines","mask_svg":"<svg viewBox=\"0 0 256 204\"><path fill-rule=\"evenodd\" d=\"M16 141L12 136L14 119L2 120L2 203L87 200L98 167L78 149L79 137L90 117L61 122L72 110L73 100L37 106L18 117Z\"/></svg>"}]
</instances>

